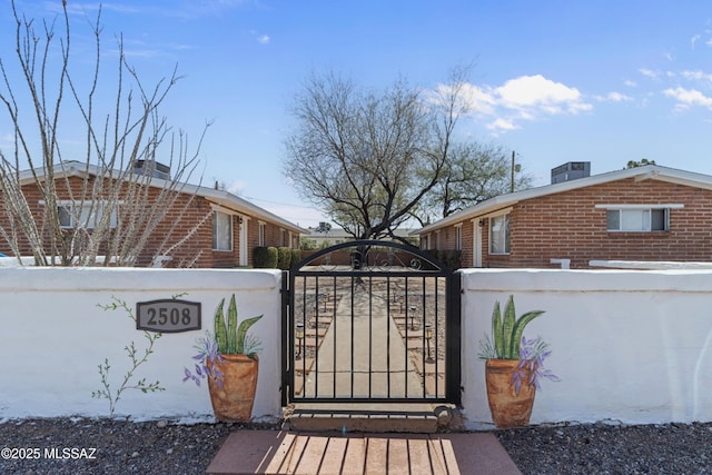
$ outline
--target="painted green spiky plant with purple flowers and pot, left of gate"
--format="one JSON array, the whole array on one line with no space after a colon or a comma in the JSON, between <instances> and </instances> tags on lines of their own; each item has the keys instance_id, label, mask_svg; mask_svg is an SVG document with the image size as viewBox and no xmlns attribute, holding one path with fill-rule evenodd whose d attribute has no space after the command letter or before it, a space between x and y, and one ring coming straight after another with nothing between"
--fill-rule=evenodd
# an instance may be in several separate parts
<instances>
[{"instance_id":1,"label":"painted green spiky plant with purple flowers and pot, left of gate","mask_svg":"<svg viewBox=\"0 0 712 475\"><path fill-rule=\"evenodd\" d=\"M208 379L210 403L218 420L247 422L251 418L257 376L260 342L248 334L249 328L263 316L247 318L239 323L235 294L230 298L225 316L225 299L215 310L214 334L200 338L195 373L185 369L185 380Z\"/></svg>"}]
</instances>

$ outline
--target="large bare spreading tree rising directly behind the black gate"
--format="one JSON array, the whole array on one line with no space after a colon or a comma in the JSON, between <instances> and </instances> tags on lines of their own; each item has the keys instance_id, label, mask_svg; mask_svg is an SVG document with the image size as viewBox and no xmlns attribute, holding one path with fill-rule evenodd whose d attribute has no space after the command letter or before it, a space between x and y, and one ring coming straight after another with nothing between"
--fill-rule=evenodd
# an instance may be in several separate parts
<instances>
[{"instance_id":1,"label":"large bare spreading tree rising directly behind the black gate","mask_svg":"<svg viewBox=\"0 0 712 475\"><path fill-rule=\"evenodd\" d=\"M436 96L403 80L365 91L334 73L312 76L295 101L285 175L355 238L395 237L441 179L466 112L465 72L454 70Z\"/></svg>"}]
</instances>

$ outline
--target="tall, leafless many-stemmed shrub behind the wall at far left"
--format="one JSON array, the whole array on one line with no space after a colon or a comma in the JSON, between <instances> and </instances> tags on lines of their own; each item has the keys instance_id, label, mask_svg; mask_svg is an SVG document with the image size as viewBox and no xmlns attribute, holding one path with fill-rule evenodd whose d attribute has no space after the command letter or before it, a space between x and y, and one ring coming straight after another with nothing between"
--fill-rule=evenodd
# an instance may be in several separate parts
<instances>
[{"instance_id":1,"label":"tall, leafless many-stemmed shrub behind the wall at far left","mask_svg":"<svg viewBox=\"0 0 712 475\"><path fill-rule=\"evenodd\" d=\"M159 113L179 76L174 70L146 87L126 60L121 37L116 73L105 71L101 9L90 22L90 78L72 71L66 2L59 29L57 19L36 28L14 1L11 9L17 63L0 57L0 106L13 146L0 148L0 236L18 259L31 253L37 265L96 265L102 255L105 265L136 265L168 210L190 206L181 190L196 170L208 126L190 152L187 136L174 132ZM83 136L83 145L68 146L68 136ZM172 176L155 177L157 158ZM185 239L174 230L164 232L155 251Z\"/></svg>"}]
</instances>

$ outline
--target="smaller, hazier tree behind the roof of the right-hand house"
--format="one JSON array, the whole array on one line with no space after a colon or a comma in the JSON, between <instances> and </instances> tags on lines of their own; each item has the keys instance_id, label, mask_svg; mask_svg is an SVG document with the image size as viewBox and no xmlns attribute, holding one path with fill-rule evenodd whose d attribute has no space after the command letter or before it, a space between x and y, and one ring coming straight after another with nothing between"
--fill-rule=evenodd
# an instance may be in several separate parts
<instances>
[{"instance_id":1,"label":"smaller, hazier tree behind the roof of the right-hand house","mask_svg":"<svg viewBox=\"0 0 712 475\"><path fill-rule=\"evenodd\" d=\"M532 176L521 167L513 169L510 157L508 150L494 144L454 144L442 179L414 210L413 217L425 225L512 189L531 187Z\"/></svg>"}]
</instances>

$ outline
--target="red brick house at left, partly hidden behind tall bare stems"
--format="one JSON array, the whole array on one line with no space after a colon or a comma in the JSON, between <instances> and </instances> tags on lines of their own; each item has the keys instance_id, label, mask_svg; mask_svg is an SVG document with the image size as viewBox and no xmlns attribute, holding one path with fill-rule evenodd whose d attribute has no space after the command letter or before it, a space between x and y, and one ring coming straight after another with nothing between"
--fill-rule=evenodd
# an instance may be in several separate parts
<instances>
[{"instance_id":1,"label":"red brick house at left, partly hidden behind tall bare stems","mask_svg":"<svg viewBox=\"0 0 712 475\"><path fill-rule=\"evenodd\" d=\"M158 169L160 164L156 164L156 166ZM58 170L62 170L55 172L60 221L62 227L71 227L72 219L76 218L72 218L69 212L70 207L78 208L88 205L81 201L78 204L76 199L70 198L81 196L81 189L87 184L91 189L93 181L98 181L97 168L90 166L87 169L85 164L65 162ZM146 181L149 192L147 202L151 202L151 200L155 202L159 194L165 192L168 184L167 178L167 176L154 174ZM44 212L44 204L30 170L21 175L20 184L22 194L37 220ZM200 268L251 266L256 247L274 246L298 249L300 235L308 232L299 226L225 190L190 184L180 184L174 190L177 197L172 201L172 207L151 232L138 258L137 266ZM2 199L2 194L0 194L0 210L2 210L0 226L8 229L9 218L4 212ZM119 201L120 199L119 197ZM119 209L121 207L128 207L128 204L120 204ZM62 214L62 211L66 212ZM77 214L83 215L83 208L80 211L75 209L73 216ZM111 216L112 228L115 227L113 221L117 219L116 216ZM22 236L18 237L18 243L23 256L32 255L29 244L23 241ZM9 244L1 235L0 253L7 256L12 255Z\"/></svg>"}]
</instances>

